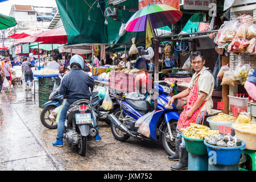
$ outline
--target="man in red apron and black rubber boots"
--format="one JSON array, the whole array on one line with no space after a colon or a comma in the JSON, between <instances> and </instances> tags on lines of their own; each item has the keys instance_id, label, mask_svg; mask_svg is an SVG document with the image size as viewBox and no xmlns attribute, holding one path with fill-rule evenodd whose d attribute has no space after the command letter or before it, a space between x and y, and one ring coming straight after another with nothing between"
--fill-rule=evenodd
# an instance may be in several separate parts
<instances>
[{"instance_id":1,"label":"man in red apron and black rubber boots","mask_svg":"<svg viewBox=\"0 0 256 182\"><path fill-rule=\"evenodd\" d=\"M188 152L184 139L181 137L181 129L190 126L190 123L200 124L213 107L214 78L208 68L204 66L205 58L201 52L196 51L191 53L190 59L196 73L193 74L188 88L173 96L168 102L168 105L171 106L175 99L188 96L187 106L177 122L176 151L174 155L169 156L172 161L179 160L178 163L171 166L171 169L176 171L188 167Z\"/></svg>"}]
</instances>

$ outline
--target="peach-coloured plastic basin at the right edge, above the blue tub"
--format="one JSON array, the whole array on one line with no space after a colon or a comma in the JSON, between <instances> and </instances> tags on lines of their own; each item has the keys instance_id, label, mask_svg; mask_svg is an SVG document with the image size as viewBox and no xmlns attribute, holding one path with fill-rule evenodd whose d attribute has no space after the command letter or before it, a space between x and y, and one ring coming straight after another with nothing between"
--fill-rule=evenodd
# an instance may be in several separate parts
<instances>
[{"instance_id":1,"label":"peach-coloured plastic basin at the right edge, above the blue tub","mask_svg":"<svg viewBox=\"0 0 256 182\"><path fill-rule=\"evenodd\" d=\"M246 149L248 150L256 150L256 133L253 131L243 130L236 127L236 125L232 125L236 135L238 138L241 138L245 141Z\"/></svg>"}]
</instances>

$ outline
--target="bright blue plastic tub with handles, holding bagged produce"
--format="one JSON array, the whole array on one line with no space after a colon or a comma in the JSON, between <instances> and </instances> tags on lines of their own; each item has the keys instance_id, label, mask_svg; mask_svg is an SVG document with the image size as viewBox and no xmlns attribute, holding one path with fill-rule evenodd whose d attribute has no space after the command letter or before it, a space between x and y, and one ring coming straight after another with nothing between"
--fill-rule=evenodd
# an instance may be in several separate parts
<instances>
[{"instance_id":1,"label":"bright blue plastic tub with handles, holding bagged produce","mask_svg":"<svg viewBox=\"0 0 256 182\"><path fill-rule=\"evenodd\" d=\"M208 144L204 140L204 144L207 146L207 152L210 161L214 164L220 165L234 165L240 162L242 150L245 149L245 142L242 140L242 145L238 147L218 147Z\"/></svg>"}]
</instances>

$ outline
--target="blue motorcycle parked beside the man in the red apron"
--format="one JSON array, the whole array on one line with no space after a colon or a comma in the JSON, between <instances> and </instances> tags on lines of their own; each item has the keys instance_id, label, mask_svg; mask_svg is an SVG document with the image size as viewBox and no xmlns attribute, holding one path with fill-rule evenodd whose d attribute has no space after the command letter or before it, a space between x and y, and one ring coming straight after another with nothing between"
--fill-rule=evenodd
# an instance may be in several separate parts
<instances>
[{"instance_id":1,"label":"blue motorcycle parked beside the man in the red apron","mask_svg":"<svg viewBox=\"0 0 256 182\"><path fill-rule=\"evenodd\" d=\"M120 105L109 115L111 131L114 138L122 142L130 137L161 141L168 155L175 154L176 126L180 114L177 113L175 104L168 107L168 100L171 98L168 94L172 93L170 87L156 84L154 89L159 93L155 109L151 109L148 101L126 99L118 94L110 94ZM145 137L138 132L139 127L135 127L135 123L150 111L154 111L149 123L150 135Z\"/></svg>"}]
</instances>

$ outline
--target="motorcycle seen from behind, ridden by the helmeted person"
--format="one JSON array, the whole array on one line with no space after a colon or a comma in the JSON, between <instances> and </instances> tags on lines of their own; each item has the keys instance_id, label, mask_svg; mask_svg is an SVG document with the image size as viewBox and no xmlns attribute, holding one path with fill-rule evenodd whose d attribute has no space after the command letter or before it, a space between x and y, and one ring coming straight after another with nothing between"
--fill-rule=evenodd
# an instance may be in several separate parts
<instances>
[{"instance_id":1,"label":"motorcycle seen from behind, ridden by the helmeted person","mask_svg":"<svg viewBox=\"0 0 256 182\"><path fill-rule=\"evenodd\" d=\"M78 151L79 155L85 156L87 142L92 140L97 132L93 124L90 101L81 99L69 106L63 139L72 145L73 150Z\"/></svg>"}]
</instances>

